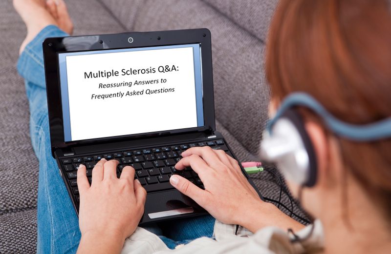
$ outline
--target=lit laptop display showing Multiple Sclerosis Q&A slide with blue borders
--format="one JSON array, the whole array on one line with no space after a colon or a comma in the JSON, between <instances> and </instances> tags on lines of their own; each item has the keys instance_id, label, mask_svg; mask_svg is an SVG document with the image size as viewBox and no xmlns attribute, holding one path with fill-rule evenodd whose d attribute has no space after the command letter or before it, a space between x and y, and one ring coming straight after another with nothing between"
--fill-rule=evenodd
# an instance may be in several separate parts
<instances>
[{"instance_id":1,"label":"lit laptop display showing Multiple Sclerosis Q&A slide with blue borders","mask_svg":"<svg viewBox=\"0 0 391 254\"><path fill-rule=\"evenodd\" d=\"M59 53L65 142L204 126L200 44Z\"/></svg>"}]
</instances>

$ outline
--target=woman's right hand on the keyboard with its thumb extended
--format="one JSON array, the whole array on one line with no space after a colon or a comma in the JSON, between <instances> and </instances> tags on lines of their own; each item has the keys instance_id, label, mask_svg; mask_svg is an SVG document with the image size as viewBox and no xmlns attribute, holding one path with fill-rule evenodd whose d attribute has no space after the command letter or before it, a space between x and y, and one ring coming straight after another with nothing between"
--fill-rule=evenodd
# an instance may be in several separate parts
<instances>
[{"instance_id":1,"label":"woman's right hand on the keyboard with its thumb extended","mask_svg":"<svg viewBox=\"0 0 391 254\"><path fill-rule=\"evenodd\" d=\"M263 202L241 172L238 161L222 150L193 147L182 153L175 168L190 166L205 190L182 176L173 175L171 184L221 222L238 224L252 232L265 226L301 229L302 224L283 214L276 206Z\"/></svg>"}]
</instances>

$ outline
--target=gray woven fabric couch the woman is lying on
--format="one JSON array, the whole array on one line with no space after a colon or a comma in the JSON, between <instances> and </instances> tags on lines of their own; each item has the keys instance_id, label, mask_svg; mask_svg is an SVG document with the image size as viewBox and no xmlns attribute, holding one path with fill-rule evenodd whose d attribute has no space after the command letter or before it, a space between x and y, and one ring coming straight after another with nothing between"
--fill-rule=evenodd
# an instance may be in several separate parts
<instances>
[{"instance_id":1,"label":"gray woven fabric couch the woman is lying on","mask_svg":"<svg viewBox=\"0 0 391 254\"><path fill-rule=\"evenodd\" d=\"M265 38L277 0L66 2L75 35L209 28L217 129L241 161L257 159L269 98L263 70ZM15 68L24 36L24 24L12 1L1 0L0 253L36 251L38 161L30 145L23 80ZM272 175L251 177L263 195L278 199L279 187ZM282 201L289 205L284 195ZM296 204L294 210L302 215Z\"/></svg>"}]
</instances>

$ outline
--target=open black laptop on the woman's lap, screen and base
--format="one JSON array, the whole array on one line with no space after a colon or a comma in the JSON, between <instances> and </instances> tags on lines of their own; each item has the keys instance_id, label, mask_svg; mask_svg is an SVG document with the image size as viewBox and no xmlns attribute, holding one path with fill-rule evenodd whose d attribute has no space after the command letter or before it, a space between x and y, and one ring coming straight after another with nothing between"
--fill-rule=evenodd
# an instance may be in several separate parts
<instances>
[{"instance_id":1,"label":"open black laptop on the woman's lap, screen and base","mask_svg":"<svg viewBox=\"0 0 391 254\"><path fill-rule=\"evenodd\" d=\"M191 168L174 168L190 147L235 157L215 127L208 29L48 38L43 55L52 155L76 213L78 165L91 182L106 158L118 176L132 166L147 190L140 224L207 214L169 178L203 188Z\"/></svg>"}]
</instances>

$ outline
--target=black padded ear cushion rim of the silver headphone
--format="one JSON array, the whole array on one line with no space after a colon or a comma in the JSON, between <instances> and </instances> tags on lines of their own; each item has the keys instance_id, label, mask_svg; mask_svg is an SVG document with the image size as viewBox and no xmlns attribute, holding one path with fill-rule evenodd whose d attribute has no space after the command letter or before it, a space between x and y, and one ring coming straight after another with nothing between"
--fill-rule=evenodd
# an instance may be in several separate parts
<instances>
[{"instance_id":1,"label":"black padded ear cushion rim of the silver headphone","mask_svg":"<svg viewBox=\"0 0 391 254\"><path fill-rule=\"evenodd\" d=\"M316 178L318 174L318 163L311 138L308 136L308 133L305 130L303 118L299 115L298 112L293 109L286 110L285 113L282 114L282 117L289 119L300 134L300 137L303 141L304 149L308 155L308 170L306 172L307 181L304 183L304 186L312 187L316 183Z\"/></svg>"}]
</instances>

